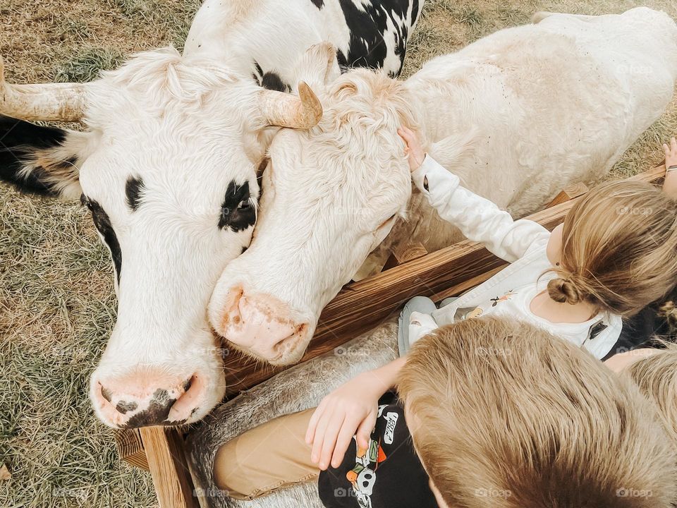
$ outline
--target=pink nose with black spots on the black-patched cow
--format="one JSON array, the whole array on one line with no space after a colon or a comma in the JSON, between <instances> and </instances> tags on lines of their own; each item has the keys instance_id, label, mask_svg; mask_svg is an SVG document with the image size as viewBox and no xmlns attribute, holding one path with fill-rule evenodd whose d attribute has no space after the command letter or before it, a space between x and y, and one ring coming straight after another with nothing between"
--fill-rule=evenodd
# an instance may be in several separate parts
<instances>
[{"instance_id":1,"label":"pink nose with black spots on the black-patched cow","mask_svg":"<svg viewBox=\"0 0 677 508\"><path fill-rule=\"evenodd\" d=\"M149 371L102 378L94 404L104 421L118 428L181 425L198 408L205 382L198 375L173 377Z\"/></svg>"}]
</instances>

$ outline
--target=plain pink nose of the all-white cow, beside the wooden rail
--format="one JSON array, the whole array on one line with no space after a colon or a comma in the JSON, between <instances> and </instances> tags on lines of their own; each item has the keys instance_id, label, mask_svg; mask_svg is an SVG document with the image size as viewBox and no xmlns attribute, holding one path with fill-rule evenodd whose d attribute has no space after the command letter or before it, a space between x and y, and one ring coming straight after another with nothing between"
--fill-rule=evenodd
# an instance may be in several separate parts
<instances>
[{"instance_id":1,"label":"plain pink nose of the all-white cow, beside the wooden rail","mask_svg":"<svg viewBox=\"0 0 677 508\"><path fill-rule=\"evenodd\" d=\"M226 306L217 330L228 341L273 365L300 359L310 325L290 317L288 306L266 294L246 294L241 287L228 291Z\"/></svg>"}]
</instances>

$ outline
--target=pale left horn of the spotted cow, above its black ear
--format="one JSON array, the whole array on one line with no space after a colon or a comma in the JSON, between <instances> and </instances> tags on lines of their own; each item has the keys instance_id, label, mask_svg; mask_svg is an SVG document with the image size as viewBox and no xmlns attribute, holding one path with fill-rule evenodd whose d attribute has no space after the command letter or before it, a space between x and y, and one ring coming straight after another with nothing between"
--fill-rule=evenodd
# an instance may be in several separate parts
<instances>
[{"instance_id":1,"label":"pale left horn of the spotted cow, above its black ear","mask_svg":"<svg viewBox=\"0 0 677 508\"><path fill-rule=\"evenodd\" d=\"M86 95L86 83L10 85L0 57L0 114L30 121L80 121Z\"/></svg>"}]
</instances>

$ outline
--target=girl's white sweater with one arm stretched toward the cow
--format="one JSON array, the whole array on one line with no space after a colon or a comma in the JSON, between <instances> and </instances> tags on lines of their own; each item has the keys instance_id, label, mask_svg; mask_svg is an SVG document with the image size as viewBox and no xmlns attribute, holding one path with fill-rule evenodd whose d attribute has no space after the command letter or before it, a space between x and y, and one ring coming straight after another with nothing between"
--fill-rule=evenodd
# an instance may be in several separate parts
<instances>
[{"instance_id":1,"label":"girl's white sweater with one arm stretched toward the cow","mask_svg":"<svg viewBox=\"0 0 677 508\"><path fill-rule=\"evenodd\" d=\"M412 177L442 219L458 227L466 238L511 262L487 282L436 310L432 317L437 326L465 317L505 315L547 329L585 347L597 358L611 350L621 334L622 320L618 315L600 313L583 323L554 323L532 313L532 298L556 277L553 272L544 274L553 268L546 253L550 231L528 219L513 220L493 202L461 186L458 176L432 157L426 156ZM410 337L412 342L415 339Z\"/></svg>"}]
</instances>

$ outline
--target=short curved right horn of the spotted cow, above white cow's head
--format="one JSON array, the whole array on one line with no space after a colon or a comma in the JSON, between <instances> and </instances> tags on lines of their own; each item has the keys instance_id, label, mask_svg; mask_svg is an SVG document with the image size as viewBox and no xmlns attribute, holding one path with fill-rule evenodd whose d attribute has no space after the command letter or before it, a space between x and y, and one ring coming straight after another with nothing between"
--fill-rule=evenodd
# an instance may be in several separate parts
<instances>
[{"instance_id":1,"label":"short curved right horn of the spotted cow, above white cow's head","mask_svg":"<svg viewBox=\"0 0 677 508\"><path fill-rule=\"evenodd\" d=\"M303 81L298 84L298 97L274 90L260 94L261 112L269 126L309 129L322 119L322 103Z\"/></svg>"}]
</instances>

